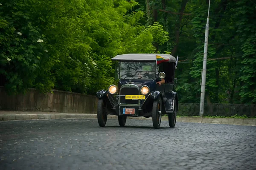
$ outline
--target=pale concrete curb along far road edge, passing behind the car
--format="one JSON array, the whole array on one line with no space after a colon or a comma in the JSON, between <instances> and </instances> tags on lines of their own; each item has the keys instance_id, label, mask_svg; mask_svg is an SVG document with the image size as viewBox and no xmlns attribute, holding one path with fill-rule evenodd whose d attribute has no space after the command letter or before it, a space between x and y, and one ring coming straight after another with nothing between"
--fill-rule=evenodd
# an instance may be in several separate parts
<instances>
[{"instance_id":1,"label":"pale concrete curb along far road edge, passing behind the car","mask_svg":"<svg viewBox=\"0 0 256 170\"><path fill-rule=\"evenodd\" d=\"M96 114L70 114L70 113L49 113L49 114L2 114L0 121L8 120L30 120L30 119L96 119ZM117 119L115 115L108 115L108 119ZM152 120L145 117L128 117L128 119ZM167 116L162 116L162 120L167 121ZM177 122L225 124L225 125L245 125L256 126L256 119L233 119L233 118L201 118L201 117L177 117Z\"/></svg>"}]
</instances>

